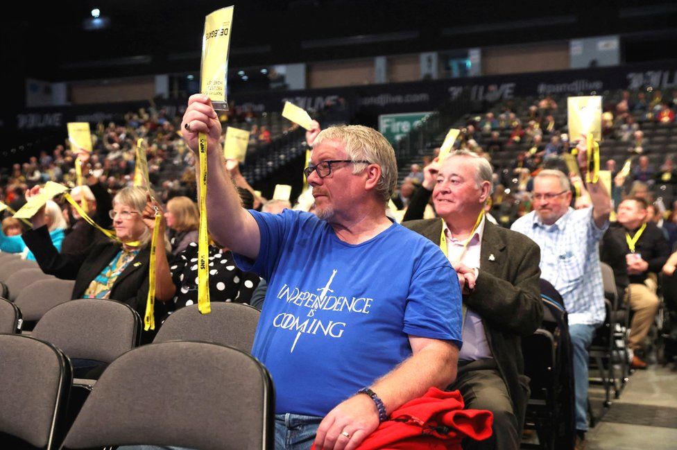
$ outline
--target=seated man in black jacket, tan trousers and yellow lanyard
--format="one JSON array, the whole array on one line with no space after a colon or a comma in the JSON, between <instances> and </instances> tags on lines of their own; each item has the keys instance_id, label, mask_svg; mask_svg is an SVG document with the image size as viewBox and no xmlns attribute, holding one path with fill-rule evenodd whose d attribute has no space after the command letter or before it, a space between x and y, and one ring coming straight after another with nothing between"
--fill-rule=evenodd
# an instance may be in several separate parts
<instances>
[{"instance_id":1,"label":"seated man in black jacket, tan trousers and yellow lanyard","mask_svg":"<svg viewBox=\"0 0 677 450\"><path fill-rule=\"evenodd\" d=\"M646 200L644 198L626 198L618 205L618 223L613 230L625 243L626 263L630 286L627 301L635 311L631 323L628 347L632 356L632 367L646 368L646 362L637 356L643 349L642 343L649 333L655 313L658 311L658 296L654 277L670 256L670 248L665 235L653 222L646 220Z\"/></svg>"}]
</instances>

